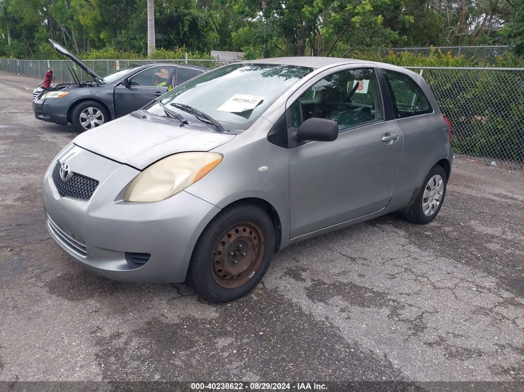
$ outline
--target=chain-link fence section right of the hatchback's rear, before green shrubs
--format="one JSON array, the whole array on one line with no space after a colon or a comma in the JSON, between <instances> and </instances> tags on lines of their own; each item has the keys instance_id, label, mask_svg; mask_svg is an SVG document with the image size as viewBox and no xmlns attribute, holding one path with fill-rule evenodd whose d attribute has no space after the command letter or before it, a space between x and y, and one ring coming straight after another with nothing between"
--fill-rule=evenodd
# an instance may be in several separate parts
<instances>
[{"instance_id":1,"label":"chain-link fence section right of the hatchback's rear, before green shrubs","mask_svg":"<svg viewBox=\"0 0 524 392\"><path fill-rule=\"evenodd\" d=\"M524 69L407 68L451 121L456 154L524 165Z\"/></svg>"}]
</instances>

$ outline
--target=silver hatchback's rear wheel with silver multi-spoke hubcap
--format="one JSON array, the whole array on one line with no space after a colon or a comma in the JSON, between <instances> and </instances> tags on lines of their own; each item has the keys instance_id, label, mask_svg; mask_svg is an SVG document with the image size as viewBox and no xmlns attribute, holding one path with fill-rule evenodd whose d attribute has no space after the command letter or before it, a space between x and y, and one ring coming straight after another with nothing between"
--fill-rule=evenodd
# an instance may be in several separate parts
<instances>
[{"instance_id":1,"label":"silver hatchback's rear wheel with silver multi-spoke hubcap","mask_svg":"<svg viewBox=\"0 0 524 392\"><path fill-rule=\"evenodd\" d=\"M446 172L442 166L435 165L424 178L422 187L404 217L419 225L426 225L439 214L446 195Z\"/></svg>"}]
</instances>

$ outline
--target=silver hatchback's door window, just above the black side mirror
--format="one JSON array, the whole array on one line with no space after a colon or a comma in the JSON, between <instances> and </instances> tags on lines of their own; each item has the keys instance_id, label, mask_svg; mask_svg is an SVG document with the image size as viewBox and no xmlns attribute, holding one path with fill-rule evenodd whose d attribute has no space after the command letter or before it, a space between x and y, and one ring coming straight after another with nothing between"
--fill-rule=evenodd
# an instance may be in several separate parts
<instances>
[{"instance_id":1,"label":"silver hatchback's door window, just above the black side mirror","mask_svg":"<svg viewBox=\"0 0 524 392\"><path fill-rule=\"evenodd\" d=\"M356 69L335 73L309 88L291 106L292 126L297 127L313 117L336 121L339 130L381 120L374 71Z\"/></svg>"}]
</instances>

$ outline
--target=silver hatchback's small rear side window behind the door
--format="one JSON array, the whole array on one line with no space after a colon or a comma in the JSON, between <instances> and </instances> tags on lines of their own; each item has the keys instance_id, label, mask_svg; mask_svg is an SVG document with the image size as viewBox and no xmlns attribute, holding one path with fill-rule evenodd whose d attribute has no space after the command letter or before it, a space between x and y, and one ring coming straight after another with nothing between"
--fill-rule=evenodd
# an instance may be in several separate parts
<instances>
[{"instance_id":1,"label":"silver hatchback's small rear side window behind the door","mask_svg":"<svg viewBox=\"0 0 524 392\"><path fill-rule=\"evenodd\" d=\"M396 118L432 113L428 97L410 76L383 70Z\"/></svg>"}]
</instances>

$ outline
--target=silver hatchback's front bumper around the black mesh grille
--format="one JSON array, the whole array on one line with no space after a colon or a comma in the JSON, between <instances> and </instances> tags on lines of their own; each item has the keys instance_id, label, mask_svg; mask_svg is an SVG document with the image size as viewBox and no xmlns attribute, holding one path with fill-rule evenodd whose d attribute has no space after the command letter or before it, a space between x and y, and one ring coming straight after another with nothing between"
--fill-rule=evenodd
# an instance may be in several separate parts
<instances>
[{"instance_id":1,"label":"silver hatchback's front bumper around the black mesh grille","mask_svg":"<svg viewBox=\"0 0 524 392\"><path fill-rule=\"evenodd\" d=\"M61 197L51 176L57 159L100 184L85 201ZM196 240L220 209L187 192L157 203L127 203L124 189L139 173L70 144L50 165L43 183L49 234L78 264L126 282L185 280ZM150 254L137 266L125 253Z\"/></svg>"}]
</instances>

